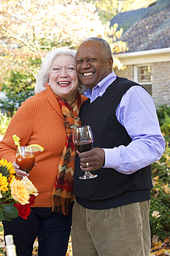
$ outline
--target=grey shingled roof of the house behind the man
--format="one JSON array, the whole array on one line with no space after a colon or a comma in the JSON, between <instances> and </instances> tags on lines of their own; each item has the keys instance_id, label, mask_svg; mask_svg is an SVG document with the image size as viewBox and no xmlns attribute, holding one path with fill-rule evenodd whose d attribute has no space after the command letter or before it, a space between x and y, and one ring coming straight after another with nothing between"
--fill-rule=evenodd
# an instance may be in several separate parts
<instances>
[{"instance_id":1,"label":"grey shingled roof of the house behind the man","mask_svg":"<svg viewBox=\"0 0 170 256\"><path fill-rule=\"evenodd\" d=\"M154 6L145 9L145 14L135 21L120 38L127 43L129 53L170 47L170 0L158 0ZM123 14L124 12L119 13L122 17L128 13ZM124 22L126 24L126 20Z\"/></svg>"}]
</instances>

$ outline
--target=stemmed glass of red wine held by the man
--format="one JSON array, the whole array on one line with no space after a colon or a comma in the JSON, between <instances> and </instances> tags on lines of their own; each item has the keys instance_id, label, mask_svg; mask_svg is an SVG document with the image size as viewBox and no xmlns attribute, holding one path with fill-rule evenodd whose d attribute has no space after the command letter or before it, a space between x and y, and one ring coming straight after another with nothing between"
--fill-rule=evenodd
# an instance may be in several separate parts
<instances>
[{"instance_id":1,"label":"stemmed glass of red wine held by the man","mask_svg":"<svg viewBox=\"0 0 170 256\"><path fill-rule=\"evenodd\" d=\"M90 125L84 125L73 128L73 143L75 148L80 152L86 152L93 146L93 133ZM79 176L79 179L93 179L97 177L97 174L91 174L91 172L85 172L83 176Z\"/></svg>"}]
</instances>

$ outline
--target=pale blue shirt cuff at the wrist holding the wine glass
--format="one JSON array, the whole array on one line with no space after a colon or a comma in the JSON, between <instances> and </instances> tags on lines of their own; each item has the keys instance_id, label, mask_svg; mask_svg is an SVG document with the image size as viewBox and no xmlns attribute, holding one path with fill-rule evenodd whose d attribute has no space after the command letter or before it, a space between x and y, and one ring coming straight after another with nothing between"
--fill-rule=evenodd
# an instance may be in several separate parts
<instances>
[{"instance_id":1,"label":"pale blue shirt cuff at the wrist holding the wine glass","mask_svg":"<svg viewBox=\"0 0 170 256\"><path fill-rule=\"evenodd\" d=\"M105 153L105 163L103 168L113 168L117 167L117 150L116 147L113 149L104 149Z\"/></svg>"}]
</instances>

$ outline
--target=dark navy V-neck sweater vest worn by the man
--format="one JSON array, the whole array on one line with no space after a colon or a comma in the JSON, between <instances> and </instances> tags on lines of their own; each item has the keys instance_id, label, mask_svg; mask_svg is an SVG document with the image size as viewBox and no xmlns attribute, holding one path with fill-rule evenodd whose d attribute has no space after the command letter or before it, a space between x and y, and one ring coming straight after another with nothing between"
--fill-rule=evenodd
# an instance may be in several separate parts
<instances>
[{"instance_id":1,"label":"dark navy V-neck sweater vest worn by the man","mask_svg":"<svg viewBox=\"0 0 170 256\"><path fill-rule=\"evenodd\" d=\"M117 121L115 111L124 93L134 85L139 84L117 77L102 97L92 103L88 99L82 105L79 116L82 125L91 125L93 147L113 148L131 143L126 129ZM84 174L79 165L77 155L73 193L76 201L85 208L101 210L150 199L151 165L133 174L121 174L111 168L101 168L93 172L98 175L97 178L88 180L79 179Z\"/></svg>"}]
</instances>

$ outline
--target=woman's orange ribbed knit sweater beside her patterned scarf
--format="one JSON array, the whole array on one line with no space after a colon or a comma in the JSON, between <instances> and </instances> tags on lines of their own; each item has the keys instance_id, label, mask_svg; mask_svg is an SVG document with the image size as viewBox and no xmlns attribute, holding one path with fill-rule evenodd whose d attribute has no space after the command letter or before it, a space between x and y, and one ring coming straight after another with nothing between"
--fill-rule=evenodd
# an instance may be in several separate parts
<instances>
[{"instance_id":1,"label":"woman's orange ribbed knit sweater beside her patterned scarf","mask_svg":"<svg viewBox=\"0 0 170 256\"><path fill-rule=\"evenodd\" d=\"M35 152L35 163L29 179L39 195L33 207L51 207L55 176L66 143L64 116L55 96L48 86L21 104L13 116L6 134L0 142L0 159L15 161L16 146L12 135L17 134L21 146L39 144L44 152Z\"/></svg>"}]
</instances>

